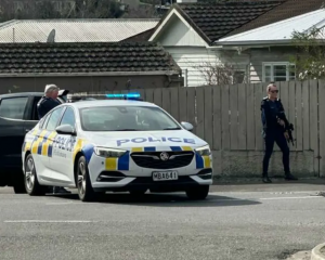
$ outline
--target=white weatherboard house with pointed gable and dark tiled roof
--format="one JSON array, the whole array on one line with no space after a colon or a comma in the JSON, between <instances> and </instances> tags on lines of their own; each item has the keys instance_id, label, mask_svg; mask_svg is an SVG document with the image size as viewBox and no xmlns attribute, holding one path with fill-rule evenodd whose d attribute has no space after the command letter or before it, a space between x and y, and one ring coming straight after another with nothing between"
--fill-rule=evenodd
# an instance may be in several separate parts
<instances>
[{"instance_id":1,"label":"white weatherboard house with pointed gable and dark tiled roof","mask_svg":"<svg viewBox=\"0 0 325 260\"><path fill-rule=\"evenodd\" d=\"M323 3L323 0L177 1L156 26L150 41L159 42L173 56L188 87L262 81L259 75L263 62L265 69L274 73L275 62L287 64L287 49L281 47L270 51L270 46L257 49L258 44L255 49L240 44L225 48L220 39L315 11ZM285 69L288 67L286 65ZM287 70L283 74L286 80L290 78Z\"/></svg>"}]
</instances>

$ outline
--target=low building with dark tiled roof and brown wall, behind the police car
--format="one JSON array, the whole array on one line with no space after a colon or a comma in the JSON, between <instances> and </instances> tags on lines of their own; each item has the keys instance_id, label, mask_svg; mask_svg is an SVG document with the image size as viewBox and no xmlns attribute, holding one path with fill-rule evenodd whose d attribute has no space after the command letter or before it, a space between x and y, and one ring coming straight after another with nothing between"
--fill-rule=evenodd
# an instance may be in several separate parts
<instances>
[{"instance_id":1,"label":"low building with dark tiled roof and brown wall, behind the police car","mask_svg":"<svg viewBox=\"0 0 325 260\"><path fill-rule=\"evenodd\" d=\"M154 42L0 43L0 93L181 87L181 69Z\"/></svg>"}]
</instances>

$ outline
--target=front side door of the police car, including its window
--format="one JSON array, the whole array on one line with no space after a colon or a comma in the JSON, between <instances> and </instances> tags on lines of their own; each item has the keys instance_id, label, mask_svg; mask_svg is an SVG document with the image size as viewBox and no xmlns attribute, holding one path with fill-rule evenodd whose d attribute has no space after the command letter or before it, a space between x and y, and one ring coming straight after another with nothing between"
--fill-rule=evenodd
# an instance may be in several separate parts
<instances>
[{"instance_id":1,"label":"front side door of the police car, including its window","mask_svg":"<svg viewBox=\"0 0 325 260\"><path fill-rule=\"evenodd\" d=\"M67 106L64 110L62 119L57 126L69 125L76 129L76 115L73 107ZM74 162L73 152L76 143L76 136L70 134L56 135L56 142L53 146L53 157L51 158L51 168L55 170L56 181L62 184L74 184Z\"/></svg>"}]
</instances>

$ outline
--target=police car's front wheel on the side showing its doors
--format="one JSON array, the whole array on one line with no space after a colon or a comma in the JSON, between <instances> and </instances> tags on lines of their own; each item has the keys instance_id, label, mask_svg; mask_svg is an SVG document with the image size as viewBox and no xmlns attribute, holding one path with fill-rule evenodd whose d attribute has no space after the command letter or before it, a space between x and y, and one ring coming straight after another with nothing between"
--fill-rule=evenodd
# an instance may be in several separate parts
<instances>
[{"instance_id":1,"label":"police car's front wheel on the side showing its doors","mask_svg":"<svg viewBox=\"0 0 325 260\"><path fill-rule=\"evenodd\" d=\"M92 202L95 198L95 193L90 183L88 165L84 156L81 156L78 160L78 195L81 202Z\"/></svg>"}]
</instances>

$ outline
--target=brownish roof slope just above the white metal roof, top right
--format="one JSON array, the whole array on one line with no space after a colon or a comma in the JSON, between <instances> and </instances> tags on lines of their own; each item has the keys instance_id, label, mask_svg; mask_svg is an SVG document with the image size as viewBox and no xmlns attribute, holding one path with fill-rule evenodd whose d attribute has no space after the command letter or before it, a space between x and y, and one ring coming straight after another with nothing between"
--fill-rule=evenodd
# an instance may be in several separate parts
<instances>
[{"instance_id":1,"label":"brownish roof slope just above the white metal roof, top right","mask_svg":"<svg viewBox=\"0 0 325 260\"><path fill-rule=\"evenodd\" d=\"M237 35L250 29L256 29L283 20L316 11L323 6L323 2L324 0L286 0L283 4L275 6L250 23L231 31L227 36Z\"/></svg>"}]
</instances>

